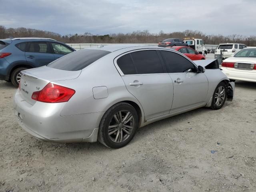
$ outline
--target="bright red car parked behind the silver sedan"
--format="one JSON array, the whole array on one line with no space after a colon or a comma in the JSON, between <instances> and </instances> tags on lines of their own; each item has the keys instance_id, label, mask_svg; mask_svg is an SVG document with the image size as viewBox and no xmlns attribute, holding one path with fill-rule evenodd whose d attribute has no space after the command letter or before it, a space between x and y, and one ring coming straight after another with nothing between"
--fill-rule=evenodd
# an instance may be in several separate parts
<instances>
[{"instance_id":1,"label":"bright red car parked behind the silver sedan","mask_svg":"<svg viewBox=\"0 0 256 192\"><path fill-rule=\"evenodd\" d=\"M174 49L184 55L186 55L188 58L191 60L202 60L205 59L205 56L202 54L199 54L197 51L190 47L185 47L185 46L172 46L172 47L166 47L166 48L171 48Z\"/></svg>"}]
</instances>

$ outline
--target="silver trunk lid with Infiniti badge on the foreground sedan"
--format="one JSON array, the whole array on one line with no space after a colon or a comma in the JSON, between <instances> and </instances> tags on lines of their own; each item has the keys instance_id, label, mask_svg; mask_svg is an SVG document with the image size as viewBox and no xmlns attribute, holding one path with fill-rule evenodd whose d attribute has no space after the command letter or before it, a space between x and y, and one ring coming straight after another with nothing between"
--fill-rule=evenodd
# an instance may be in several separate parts
<instances>
[{"instance_id":1,"label":"silver trunk lid with Infiniti badge on the foreground sedan","mask_svg":"<svg viewBox=\"0 0 256 192\"><path fill-rule=\"evenodd\" d=\"M26 102L34 104L33 92L42 90L49 82L77 78L82 70L65 71L47 66L24 70L21 72L20 92Z\"/></svg>"}]
</instances>

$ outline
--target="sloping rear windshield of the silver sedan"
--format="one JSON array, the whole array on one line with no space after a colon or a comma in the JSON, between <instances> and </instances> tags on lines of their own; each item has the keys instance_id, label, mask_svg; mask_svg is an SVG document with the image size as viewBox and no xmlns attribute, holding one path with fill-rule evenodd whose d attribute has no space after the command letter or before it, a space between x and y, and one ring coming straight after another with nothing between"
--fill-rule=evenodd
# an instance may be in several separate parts
<instances>
[{"instance_id":1,"label":"sloping rear windshield of the silver sedan","mask_svg":"<svg viewBox=\"0 0 256 192\"><path fill-rule=\"evenodd\" d=\"M67 54L54 62L51 62L47 66L66 71L78 71L109 53L109 51L104 50L79 50Z\"/></svg>"}]
</instances>

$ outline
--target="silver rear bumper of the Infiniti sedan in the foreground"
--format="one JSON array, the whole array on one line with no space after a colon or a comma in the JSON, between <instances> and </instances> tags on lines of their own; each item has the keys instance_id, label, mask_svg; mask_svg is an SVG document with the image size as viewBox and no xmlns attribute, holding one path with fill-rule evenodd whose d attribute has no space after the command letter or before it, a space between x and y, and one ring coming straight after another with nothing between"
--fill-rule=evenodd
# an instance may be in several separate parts
<instances>
[{"instance_id":1,"label":"silver rear bumper of the Infiniti sedan in the foreground","mask_svg":"<svg viewBox=\"0 0 256 192\"><path fill-rule=\"evenodd\" d=\"M96 142L98 119L103 112L60 116L63 103L24 101L17 90L14 95L14 116L18 124L39 140L48 142Z\"/></svg>"}]
</instances>

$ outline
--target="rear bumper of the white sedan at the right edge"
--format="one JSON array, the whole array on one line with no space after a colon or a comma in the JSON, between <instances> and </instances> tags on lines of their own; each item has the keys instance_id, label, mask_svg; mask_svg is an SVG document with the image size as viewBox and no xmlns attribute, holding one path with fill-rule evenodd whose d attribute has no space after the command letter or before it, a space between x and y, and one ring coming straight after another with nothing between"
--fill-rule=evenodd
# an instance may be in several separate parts
<instances>
[{"instance_id":1,"label":"rear bumper of the white sedan at the right edge","mask_svg":"<svg viewBox=\"0 0 256 192\"><path fill-rule=\"evenodd\" d=\"M226 67L221 67L222 72L232 80L241 80L248 82L256 82L256 72L252 70L229 70Z\"/></svg>"}]
</instances>

